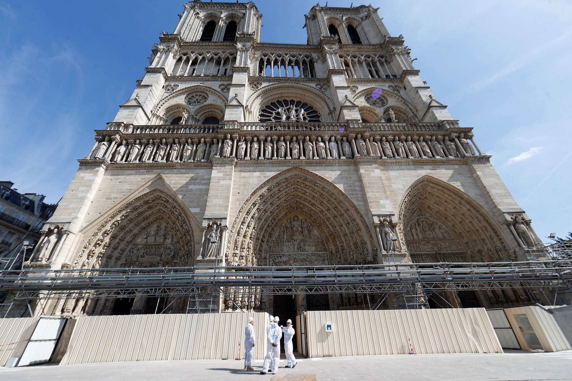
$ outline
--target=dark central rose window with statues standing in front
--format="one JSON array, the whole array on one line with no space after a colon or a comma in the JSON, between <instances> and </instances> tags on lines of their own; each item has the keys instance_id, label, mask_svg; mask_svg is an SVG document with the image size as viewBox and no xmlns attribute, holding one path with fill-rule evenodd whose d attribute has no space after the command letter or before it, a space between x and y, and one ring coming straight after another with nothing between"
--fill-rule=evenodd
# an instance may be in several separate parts
<instances>
[{"instance_id":1,"label":"dark central rose window with statues standing in front","mask_svg":"<svg viewBox=\"0 0 572 381\"><path fill-rule=\"evenodd\" d=\"M319 122L320 114L310 105L295 100L274 101L260 110L260 122Z\"/></svg>"}]
</instances>

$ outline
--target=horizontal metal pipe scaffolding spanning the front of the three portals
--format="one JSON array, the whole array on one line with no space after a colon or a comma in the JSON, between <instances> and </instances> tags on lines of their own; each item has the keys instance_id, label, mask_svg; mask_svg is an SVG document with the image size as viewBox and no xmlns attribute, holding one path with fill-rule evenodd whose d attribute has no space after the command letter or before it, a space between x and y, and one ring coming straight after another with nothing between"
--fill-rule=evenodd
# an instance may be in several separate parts
<instances>
[{"instance_id":1,"label":"horizontal metal pipe scaffolding spanning the front of the three portals","mask_svg":"<svg viewBox=\"0 0 572 381\"><path fill-rule=\"evenodd\" d=\"M291 295L293 289L309 294L358 293L367 295L367 307L371 309L379 308L390 293L402 295L406 308L422 308L426 307L428 292L523 289L528 295L538 294L534 298L530 295L531 300L555 305L572 295L572 260L6 270L0 271L0 291L11 292L14 297L0 316L6 316L17 303L25 303L32 315L31 300L125 298L135 293L172 299L164 308L158 308L157 303L156 313L168 313L172 311L170 305L184 299L188 313L214 312L216 300L228 297L225 290L229 289L240 289L248 295ZM370 302L370 295L379 297L376 303Z\"/></svg>"}]
</instances>

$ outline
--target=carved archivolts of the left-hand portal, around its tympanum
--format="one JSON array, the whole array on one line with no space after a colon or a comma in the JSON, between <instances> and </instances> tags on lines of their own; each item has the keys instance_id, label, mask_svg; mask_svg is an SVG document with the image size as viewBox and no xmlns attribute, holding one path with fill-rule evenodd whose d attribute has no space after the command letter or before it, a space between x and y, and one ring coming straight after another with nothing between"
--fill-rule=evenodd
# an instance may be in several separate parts
<instances>
[{"instance_id":1,"label":"carved archivolts of the left-hand portal, around its tympanum","mask_svg":"<svg viewBox=\"0 0 572 381\"><path fill-rule=\"evenodd\" d=\"M120 267L122 263L132 261L126 256L133 257L133 250L130 250L133 245L158 243L174 246L160 248L166 257L172 257L169 260L158 259L158 264L166 261L180 266L190 265L194 258L194 238L191 221L184 208L179 201L160 189L129 201L100 224L84 245L73 267ZM145 233L157 227L162 227L162 230L155 237L162 237L162 241L154 238L151 242ZM150 234L153 236L154 233Z\"/></svg>"}]
</instances>

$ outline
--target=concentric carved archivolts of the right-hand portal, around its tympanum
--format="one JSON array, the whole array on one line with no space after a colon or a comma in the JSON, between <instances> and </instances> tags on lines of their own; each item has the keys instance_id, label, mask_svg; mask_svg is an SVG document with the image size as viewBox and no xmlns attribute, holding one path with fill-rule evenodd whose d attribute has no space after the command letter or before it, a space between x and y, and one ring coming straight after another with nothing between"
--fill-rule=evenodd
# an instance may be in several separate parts
<instances>
[{"instance_id":1,"label":"concentric carved archivolts of the right-hand portal, around its tympanum","mask_svg":"<svg viewBox=\"0 0 572 381\"><path fill-rule=\"evenodd\" d=\"M403 196L398 218L402 247L407 247L408 229L420 215L439 221L448 229L458 239L466 261L509 257L501 225L478 202L445 181L423 176Z\"/></svg>"}]
</instances>

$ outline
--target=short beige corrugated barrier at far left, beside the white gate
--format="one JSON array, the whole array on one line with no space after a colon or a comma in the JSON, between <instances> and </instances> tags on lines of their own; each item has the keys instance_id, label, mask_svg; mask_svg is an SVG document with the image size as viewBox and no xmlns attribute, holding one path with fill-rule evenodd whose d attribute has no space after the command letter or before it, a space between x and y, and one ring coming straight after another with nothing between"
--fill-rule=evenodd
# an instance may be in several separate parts
<instances>
[{"instance_id":1,"label":"short beige corrugated barrier at far left, beside the white gate","mask_svg":"<svg viewBox=\"0 0 572 381\"><path fill-rule=\"evenodd\" d=\"M5 366L9 358L22 355L38 319L0 319L0 366Z\"/></svg>"}]
</instances>

